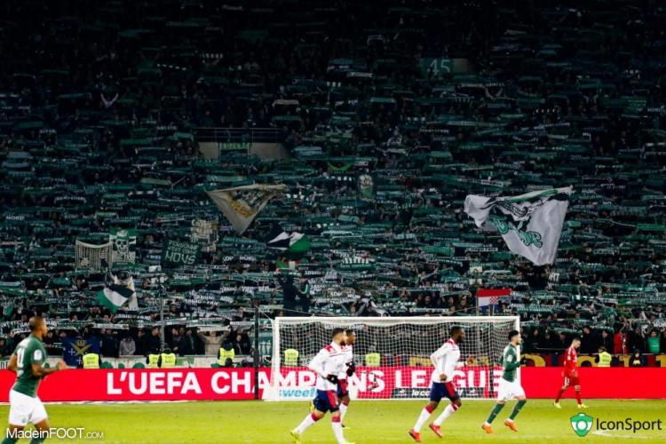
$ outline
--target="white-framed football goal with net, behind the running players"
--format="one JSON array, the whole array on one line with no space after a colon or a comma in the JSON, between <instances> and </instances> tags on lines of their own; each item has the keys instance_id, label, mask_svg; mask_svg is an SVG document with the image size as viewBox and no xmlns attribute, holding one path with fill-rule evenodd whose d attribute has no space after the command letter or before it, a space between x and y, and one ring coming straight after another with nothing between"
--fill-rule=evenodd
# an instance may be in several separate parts
<instances>
[{"instance_id":1,"label":"white-framed football goal with net, behind the running players","mask_svg":"<svg viewBox=\"0 0 666 444\"><path fill-rule=\"evenodd\" d=\"M270 384L263 398L311 400L315 375L307 365L330 343L330 333L337 327L356 334L356 373L349 378L352 398L427 398L430 355L448 340L449 330L456 325L465 331L454 377L458 392L464 398L495 397L502 376L499 359L509 332L519 329L515 316L275 318Z\"/></svg>"}]
</instances>

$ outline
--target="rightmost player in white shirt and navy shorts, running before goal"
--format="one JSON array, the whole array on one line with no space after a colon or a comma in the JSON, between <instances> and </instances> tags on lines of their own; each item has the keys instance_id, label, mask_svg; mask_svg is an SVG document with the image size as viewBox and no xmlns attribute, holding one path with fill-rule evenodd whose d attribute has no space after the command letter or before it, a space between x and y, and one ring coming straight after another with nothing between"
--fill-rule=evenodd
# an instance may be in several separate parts
<instances>
[{"instance_id":1,"label":"rightmost player in white shirt and navy shorts, running before goal","mask_svg":"<svg viewBox=\"0 0 666 444\"><path fill-rule=\"evenodd\" d=\"M458 360L460 359L460 349L458 344L464 340L464 329L460 326L453 327L450 332L450 338L444 345L442 345L435 353L432 353L430 360L434 366L431 376L430 385L430 402L421 411L421 414L416 420L414 428L409 431L411 436L416 442L421 442L421 427L428 420L435 408L440 405L440 400L444 397L448 398L451 403L444 409L442 414L429 425L432 432L441 438L441 423L444 422L448 416L451 416L460 406L460 395L456 392L456 387L453 385L453 374L458 367ZM471 362L472 357L468 358L468 363Z\"/></svg>"}]
</instances>

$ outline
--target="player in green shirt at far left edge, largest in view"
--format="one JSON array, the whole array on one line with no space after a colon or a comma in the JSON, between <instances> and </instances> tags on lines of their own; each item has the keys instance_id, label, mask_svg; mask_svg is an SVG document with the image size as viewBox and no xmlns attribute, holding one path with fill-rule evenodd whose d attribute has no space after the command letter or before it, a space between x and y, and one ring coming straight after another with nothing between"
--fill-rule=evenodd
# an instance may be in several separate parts
<instances>
[{"instance_id":1,"label":"player in green shirt at far left edge, largest in view","mask_svg":"<svg viewBox=\"0 0 666 444\"><path fill-rule=\"evenodd\" d=\"M16 373L16 383L9 392L9 427L4 433L2 444L16 442L20 432L28 425L35 424L38 431L46 436L49 428L49 417L46 415L44 404L37 397L37 387L42 378L53 372L67 369L64 361L58 361L54 368L45 368L46 349L42 340L48 331L46 322L41 316L34 316L28 322L30 336L20 341L9 360L7 369ZM39 443L44 439L33 438L31 443Z\"/></svg>"}]
</instances>

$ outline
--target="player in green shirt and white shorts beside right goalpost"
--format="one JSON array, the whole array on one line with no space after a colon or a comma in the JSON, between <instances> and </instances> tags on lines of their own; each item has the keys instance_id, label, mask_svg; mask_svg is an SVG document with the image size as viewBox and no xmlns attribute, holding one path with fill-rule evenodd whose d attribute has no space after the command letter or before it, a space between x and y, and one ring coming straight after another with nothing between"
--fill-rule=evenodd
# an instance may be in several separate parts
<instances>
[{"instance_id":1,"label":"player in green shirt and white shorts beside right goalpost","mask_svg":"<svg viewBox=\"0 0 666 444\"><path fill-rule=\"evenodd\" d=\"M511 330L509 333L509 345L504 347L502 365L504 371L497 390L497 403L493 411L490 412L490 416L488 416L486 422L481 425L481 428L487 433L493 432L490 424L492 424L495 416L504 408L506 401L514 398L518 399L518 403L513 408L511 415L504 420L504 425L509 427L513 432L518 432L518 428L513 420L518 416L520 408L523 408L527 402L525 391L516 379L516 371L520 367L520 333L518 330Z\"/></svg>"}]
</instances>

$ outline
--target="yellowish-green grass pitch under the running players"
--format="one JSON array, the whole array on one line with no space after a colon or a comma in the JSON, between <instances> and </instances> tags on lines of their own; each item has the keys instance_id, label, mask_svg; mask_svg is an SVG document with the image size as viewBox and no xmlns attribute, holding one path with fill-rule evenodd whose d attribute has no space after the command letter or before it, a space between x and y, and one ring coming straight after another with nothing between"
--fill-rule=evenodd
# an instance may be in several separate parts
<instances>
[{"instance_id":1,"label":"yellowish-green grass pitch under the running players","mask_svg":"<svg viewBox=\"0 0 666 444\"><path fill-rule=\"evenodd\" d=\"M503 425L513 402L504 408L493 424L495 433L480 429L494 401L467 400L463 408L443 424L444 439L438 439L428 428L422 430L424 443L503 442L666 442L666 401L664 400L587 400L586 411L600 420L642 421L662 419L662 431L632 433L599 431L593 426L584 438L573 431L569 417L578 413L574 400L563 400L562 409L552 407L551 400L528 400L517 418L519 432ZM345 438L361 443L413 442L407 432L412 427L425 401L353 401L345 423L350 427ZM435 414L441 411L440 406ZM7 417L9 407L0 406L0 416ZM46 409L54 427L85 427L89 432L104 432L104 440L68 440L68 442L109 443L289 443L289 429L308 412L307 402L174 402L146 404L49 404ZM434 415L432 416L434 418ZM329 416L314 424L304 434L304 444L335 443ZM54 441L54 440L53 440ZM27 441L26 441L27 442ZM48 442L48 441L47 441Z\"/></svg>"}]
</instances>

